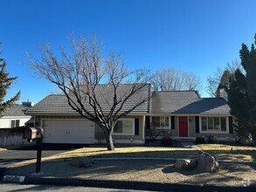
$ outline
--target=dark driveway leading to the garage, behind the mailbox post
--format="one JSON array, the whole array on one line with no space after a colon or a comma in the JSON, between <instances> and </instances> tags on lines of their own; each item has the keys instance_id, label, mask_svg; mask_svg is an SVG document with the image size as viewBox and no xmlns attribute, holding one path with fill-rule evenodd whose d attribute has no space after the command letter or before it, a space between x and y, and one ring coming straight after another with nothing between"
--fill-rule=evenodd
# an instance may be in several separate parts
<instances>
[{"instance_id":1,"label":"dark driveway leading to the garage, behind the mailbox post","mask_svg":"<svg viewBox=\"0 0 256 192\"><path fill-rule=\"evenodd\" d=\"M53 154L61 154L68 150L84 147L81 145L57 145L44 144L42 150L42 157L48 157ZM37 147L35 144L25 145L22 147L12 148L10 150L0 151L0 181L5 172L13 163L25 160L35 159L37 157Z\"/></svg>"}]
</instances>

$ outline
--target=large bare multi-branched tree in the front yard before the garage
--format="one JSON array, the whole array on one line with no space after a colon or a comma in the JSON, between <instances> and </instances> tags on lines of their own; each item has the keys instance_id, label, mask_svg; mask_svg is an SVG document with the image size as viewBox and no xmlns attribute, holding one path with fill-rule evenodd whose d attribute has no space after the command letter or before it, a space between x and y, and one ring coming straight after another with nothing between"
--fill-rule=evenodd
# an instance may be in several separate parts
<instances>
[{"instance_id":1,"label":"large bare multi-branched tree in the front yard before the garage","mask_svg":"<svg viewBox=\"0 0 256 192\"><path fill-rule=\"evenodd\" d=\"M71 52L61 48L59 57L49 45L41 45L42 57L30 57L30 64L59 87L73 110L100 126L107 149L114 150L117 120L149 100L149 71L128 70L116 52L103 58L96 38L72 38L71 45Z\"/></svg>"}]
</instances>

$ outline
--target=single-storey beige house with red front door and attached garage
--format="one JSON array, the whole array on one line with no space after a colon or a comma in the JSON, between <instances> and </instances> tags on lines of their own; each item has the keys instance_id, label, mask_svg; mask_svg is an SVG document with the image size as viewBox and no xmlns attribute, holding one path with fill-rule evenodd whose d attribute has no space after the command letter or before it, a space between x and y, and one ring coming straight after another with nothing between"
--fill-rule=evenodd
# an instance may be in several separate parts
<instances>
[{"instance_id":1,"label":"single-storey beige house with red front door and attached garage","mask_svg":"<svg viewBox=\"0 0 256 192\"><path fill-rule=\"evenodd\" d=\"M149 97L150 86L142 93ZM164 131L157 139L163 134L180 139L208 135L216 136L218 140L234 138L232 115L225 99L201 99L197 92L192 91L157 92L153 95L152 99L118 120L114 127L114 143L143 144L149 138L152 127L155 127L155 132ZM133 101L131 99L129 103ZM27 114L34 117L35 124L44 128L45 143L105 142L100 127L73 111L64 95L48 95L31 107Z\"/></svg>"}]
</instances>

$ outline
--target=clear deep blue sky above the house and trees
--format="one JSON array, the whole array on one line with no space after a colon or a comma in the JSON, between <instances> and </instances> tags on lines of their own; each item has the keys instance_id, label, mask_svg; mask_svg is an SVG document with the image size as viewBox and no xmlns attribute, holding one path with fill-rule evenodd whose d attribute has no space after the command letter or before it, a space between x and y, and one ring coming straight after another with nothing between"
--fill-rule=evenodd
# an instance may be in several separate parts
<instances>
[{"instance_id":1,"label":"clear deep blue sky above the house and trees","mask_svg":"<svg viewBox=\"0 0 256 192\"><path fill-rule=\"evenodd\" d=\"M0 0L1 57L17 76L10 95L38 102L57 88L24 64L38 45L68 45L70 34L97 34L105 51L121 51L130 67L178 67L203 81L239 59L256 32L255 0ZM208 96L206 93L203 96Z\"/></svg>"}]
</instances>

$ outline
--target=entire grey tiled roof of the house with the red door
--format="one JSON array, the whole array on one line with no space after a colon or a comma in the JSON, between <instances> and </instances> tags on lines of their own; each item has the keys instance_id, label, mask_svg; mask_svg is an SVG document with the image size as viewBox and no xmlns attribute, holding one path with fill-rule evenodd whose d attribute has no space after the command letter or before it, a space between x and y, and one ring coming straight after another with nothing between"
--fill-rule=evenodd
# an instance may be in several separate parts
<instances>
[{"instance_id":1,"label":"entire grey tiled roof of the house with the red door","mask_svg":"<svg viewBox=\"0 0 256 192\"><path fill-rule=\"evenodd\" d=\"M102 86L104 87L104 86ZM129 87L123 85L122 89ZM102 89L101 89L102 91ZM98 90L100 92L100 89ZM109 93L109 92L107 92ZM106 92L104 95L106 96ZM145 87L142 93L136 94L129 99L124 109L134 106L142 94L149 96L150 88ZM111 94L108 102L103 102L101 106L104 111L109 111L111 106ZM86 106L90 108L90 106ZM151 101L147 101L138 106L132 113L152 113L152 114L230 114L230 107L226 100L222 98L200 98L197 92L193 91L173 91L154 93ZM79 115L67 103L65 95L51 94L42 99L37 105L31 107L27 114L34 115Z\"/></svg>"}]
</instances>

